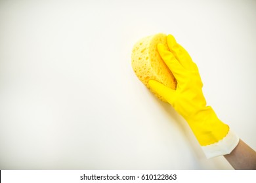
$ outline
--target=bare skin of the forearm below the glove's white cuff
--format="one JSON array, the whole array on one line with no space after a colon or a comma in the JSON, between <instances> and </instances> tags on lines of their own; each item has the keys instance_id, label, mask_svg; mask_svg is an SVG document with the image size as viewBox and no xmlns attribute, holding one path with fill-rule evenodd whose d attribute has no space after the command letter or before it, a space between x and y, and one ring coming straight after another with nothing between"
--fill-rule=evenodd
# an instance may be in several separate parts
<instances>
[{"instance_id":1,"label":"bare skin of the forearm below the glove's white cuff","mask_svg":"<svg viewBox=\"0 0 256 183\"><path fill-rule=\"evenodd\" d=\"M256 169L256 152L242 140L230 154L224 158L234 167L234 169Z\"/></svg>"}]
</instances>

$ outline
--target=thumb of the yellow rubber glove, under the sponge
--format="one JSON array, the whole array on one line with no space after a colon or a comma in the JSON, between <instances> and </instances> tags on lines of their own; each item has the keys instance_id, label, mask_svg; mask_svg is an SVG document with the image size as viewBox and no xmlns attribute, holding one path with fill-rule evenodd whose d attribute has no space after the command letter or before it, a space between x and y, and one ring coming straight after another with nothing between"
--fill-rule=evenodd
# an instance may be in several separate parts
<instances>
[{"instance_id":1,"label":"thumb of the yellow rubber glove, under the sponge","mask_svg":"<svg viewBox=\"0 0 256 183\"><path fill-rule=\"evenodd\" d=\"M175 98L174 96L176 93L175 90L168 88L167 86L161 84L156 80L149 80L148 84L154 92L158 93L158 95L163 97L169 104L173 105L173 101Z\"/></svg>"}]
</instances>

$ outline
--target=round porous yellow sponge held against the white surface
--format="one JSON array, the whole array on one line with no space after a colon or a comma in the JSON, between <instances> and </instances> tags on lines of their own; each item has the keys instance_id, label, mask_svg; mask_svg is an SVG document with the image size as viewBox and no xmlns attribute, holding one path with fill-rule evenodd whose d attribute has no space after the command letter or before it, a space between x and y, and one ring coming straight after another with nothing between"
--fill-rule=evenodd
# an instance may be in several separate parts
<instances>
[{"instance_id":1,"label":"round porous yellow sponge held against the white surface","mask_svg":"<svg viewBox=\"0 0 256 183\"><path fill-rule=\"evenodd\" d=\"M154 92L148 85L149 80L158 80L158 82L161 82L173 90L177 87L177 81L173 73L171 73L167 65L165 65L158 53L157 45L159 43L167 46L167 36L165 34L158 33L140 39L133 47L131 65L139 80L161 99L161 101L165 101L163 97Z\"/></svg>"}]
</instances>

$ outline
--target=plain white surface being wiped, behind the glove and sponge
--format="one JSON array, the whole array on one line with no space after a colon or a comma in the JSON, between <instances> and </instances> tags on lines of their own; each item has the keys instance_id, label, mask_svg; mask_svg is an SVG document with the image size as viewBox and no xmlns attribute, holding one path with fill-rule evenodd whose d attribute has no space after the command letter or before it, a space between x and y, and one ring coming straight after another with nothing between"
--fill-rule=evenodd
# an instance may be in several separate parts
<instances>
[{"instance_id":1,"label":"plain white surface being wiped, behind the glove and sponge","mask_svg":"<svg viewBox=\"0 0 256 183\"><path fill-rule=\"evenodd\" d=\"M256 149L256 1L0 1L0 169L232 169L131 68L171 33Z\"/></svg>"}]
</instances>

